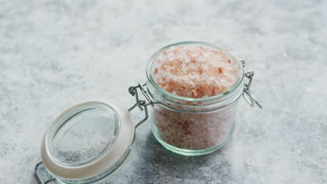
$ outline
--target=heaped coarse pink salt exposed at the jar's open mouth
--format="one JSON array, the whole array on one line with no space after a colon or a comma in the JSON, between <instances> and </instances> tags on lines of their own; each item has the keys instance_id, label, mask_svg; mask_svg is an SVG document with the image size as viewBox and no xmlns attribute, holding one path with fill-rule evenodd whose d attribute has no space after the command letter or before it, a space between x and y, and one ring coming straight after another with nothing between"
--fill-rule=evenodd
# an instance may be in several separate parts
<instances>
[{"instance_id":1,"label":"heaped coarse pink salt exposed at the jar's open mouth","mask_svg":"<svg viewBox=\"0 0 327 184\"><path fill-rule=\"evenodd\" d=\"M238 78L238 68L225 52L195 45L166 49L152 68L152 76L161 88L189 98L224 93Z\"/></svg>"}]
</instances>

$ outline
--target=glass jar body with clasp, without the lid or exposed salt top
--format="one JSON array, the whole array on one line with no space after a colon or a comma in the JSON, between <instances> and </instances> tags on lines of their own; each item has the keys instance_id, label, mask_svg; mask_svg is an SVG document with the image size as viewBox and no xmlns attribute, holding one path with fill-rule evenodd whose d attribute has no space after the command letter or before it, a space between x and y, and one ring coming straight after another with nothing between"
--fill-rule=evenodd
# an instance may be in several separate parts
<instances>
[{"instance_id":1,"label":"glass jar body with clasp, without the lid or exposed salt top","mask_svg":"<svg viewBox=\"0 0 327 184\"><path fill-rule=\"evenodd\" d=\"M162 89L153 76L154 62L163 51L177 45L201 46L225 52L238 68L235 84L224 93L204 98L183 97ZM176 43L156 52L146 68L147 93L155 104L150 112L154 137L168 150L182 155L205 155L224 146L233 135L240 96L246 95L252 106L256 102L251 93L244 94L248 85L244 83L244 65L244 61L236 59L228 50L209 43Z\"/></svg>"}]
</instances>

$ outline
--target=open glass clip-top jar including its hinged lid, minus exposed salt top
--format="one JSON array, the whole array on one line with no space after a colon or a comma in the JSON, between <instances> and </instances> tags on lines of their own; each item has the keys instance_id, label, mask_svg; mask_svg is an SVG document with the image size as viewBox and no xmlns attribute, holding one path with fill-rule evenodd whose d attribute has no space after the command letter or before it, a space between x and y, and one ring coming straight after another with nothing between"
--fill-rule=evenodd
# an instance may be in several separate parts
<instances>
[{"instance_id":1,"label":"open glass clip-top jar including its hinged lid, minus exposed salt top","mask_svg":"<svg viewBox=\"0 0 327 184\"><path fill-rule=\"evenodd\" d=\"M225 93L208 98L168 93L154 81L152 64L161 52L175 45L201 45L226 52L235 61L238 79ZM41 142L42 162L35 167L39 183L106 182L126 164L135 145L136 128L149 117L154 137L170 151L182 155L216 151L231 139L240 96L252 107L259 105L249 91L254 72L245 72L244 67L245 62L231 52L209 43L163 47L147 63L147 83L129 88L136 99L131 108L114 100L92 100L66 109L53 121ZM130 111L136 107L145 112L145 118L134 124Z\"/></svg>"}]
</instances>

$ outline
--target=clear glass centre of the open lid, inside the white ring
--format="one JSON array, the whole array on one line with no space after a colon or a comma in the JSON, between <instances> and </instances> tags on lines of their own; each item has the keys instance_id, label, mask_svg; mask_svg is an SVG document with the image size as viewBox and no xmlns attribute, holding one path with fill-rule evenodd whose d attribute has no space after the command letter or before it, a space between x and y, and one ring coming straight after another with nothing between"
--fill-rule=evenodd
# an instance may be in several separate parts
<instances>
[{"instance_id":1,"label":"clear glass centre of the open lid, inside the white ring","mask_svg":"<svg viewBox=\"0 0 327 184\"><path fill-rule=\"evenodd\" d=\"M49 135L50 155L69 166L99 158L115 142L120 127L114 109L96 102L79 105L57 121Z\"/></svg>"}]
</instances>

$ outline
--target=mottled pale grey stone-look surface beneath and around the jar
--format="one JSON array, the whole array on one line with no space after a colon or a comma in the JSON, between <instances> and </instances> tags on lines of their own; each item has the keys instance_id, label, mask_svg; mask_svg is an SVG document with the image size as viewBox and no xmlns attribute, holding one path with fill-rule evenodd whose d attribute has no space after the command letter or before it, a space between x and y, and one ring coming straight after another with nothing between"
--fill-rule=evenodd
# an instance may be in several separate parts
<instances>
[{"instance_id":1,"label":"mottled pale grey stone-look surface beneath and around the jar","mask_svg":"<svg viewBox=\"0 0 327 184\"><path fill-rule=\"evenodd\" d=\"M327 183L326 1L0 1L0 183L37 183L43 132L67 105L133 103L159 48L202 40L256 71L233 139L203 157L138 130L108 183ZM134 113L134 118L143 114Z\"/></svg>"}]
</instances>

